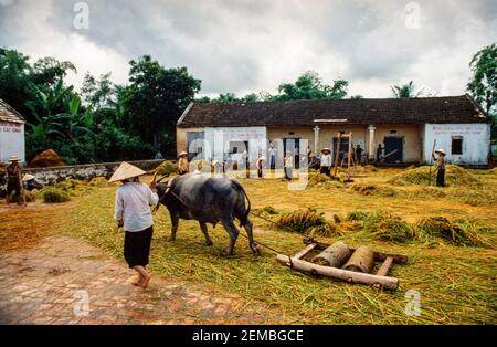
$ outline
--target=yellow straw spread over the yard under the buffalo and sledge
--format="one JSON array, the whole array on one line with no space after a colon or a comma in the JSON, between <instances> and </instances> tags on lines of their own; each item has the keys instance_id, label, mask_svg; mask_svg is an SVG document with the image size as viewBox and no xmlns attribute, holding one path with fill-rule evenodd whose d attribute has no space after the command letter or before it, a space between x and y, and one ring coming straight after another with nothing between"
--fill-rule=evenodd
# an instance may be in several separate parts
<instances>
[{"instance_id":1,"label":"yellow straw spread over the yard under the buffalo and sledge","mask_svg":"<svg viewBox=\"0 0 497 347\"><path fill-rule=\"evenodd\" d=\"M465 170L467 171L467 170ZM342 240L351 246L370 245L378 251L405 254L409 264L395 265L392 276L400 278L395 292L350 285L331 280L317 280L294 272L275 261L263 249L254 256L247 242L239 238L236 254L221 256L228 245L228 234L218 227L212 230L214 246L204 245L198 223L181 221L176 242L167 242L170 221L162 207L156 214L150 269L156 274L177 276L209 286L214 292L239 294L246 305L257 303L267 308L268 324L496 324L497 323L497 175L482 170L469 174L477 182L444 189L419 185L393 183L402 169L362 169L359 178L345 186L315 179L302 191L288 190L279 179L240 179L253 209L272 207L276 214L311 208L334 221L350 212L390 213L402 221L416 223L426 217L448 220L465 218L484 225L482 236L487 246L461 246L442 239L430 242L384 242L369 234L360 224L337 224L340 233L321 241ZM89 193L73 198L61 210L64 223L54 232L88 240L116 257L121 257L123 239L113 220L116 186L99 185ZM302 250L302 235L277 230L264 220L252 218L255 239L283 253ZM408 291L421 294L419 316L405 314L411 297Z\"/></svg>"}]
</instances>

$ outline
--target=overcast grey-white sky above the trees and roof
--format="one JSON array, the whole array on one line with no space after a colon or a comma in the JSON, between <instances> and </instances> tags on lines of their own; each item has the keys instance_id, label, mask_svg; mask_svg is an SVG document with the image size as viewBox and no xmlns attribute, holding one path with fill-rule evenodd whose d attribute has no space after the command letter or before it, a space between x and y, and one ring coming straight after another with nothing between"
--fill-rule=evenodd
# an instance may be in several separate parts
<instances>
[{"instance_id":1,"label":"overcast grey-white sky above the trees and roof","mask_svg":"<svg viewBox=\"0 0 497 347\"><path fill-rule=\"evenodd\" d=\"M350 95L411 80L457 95L496 41L495 0L0 0L0 46L72 61L76 86L87 71L125 83L128 62L150 54L187 66L203 95L276 93L308 70L348 80Z\"/></svg>"}]
</instances>

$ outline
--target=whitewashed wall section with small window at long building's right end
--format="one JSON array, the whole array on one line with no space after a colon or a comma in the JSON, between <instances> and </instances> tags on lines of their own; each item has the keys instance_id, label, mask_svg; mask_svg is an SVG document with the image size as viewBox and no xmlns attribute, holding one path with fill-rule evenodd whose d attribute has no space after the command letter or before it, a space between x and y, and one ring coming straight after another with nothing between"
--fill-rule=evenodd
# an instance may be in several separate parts
<instances>
[{"instance_id":1,"label":"whitewashed wall section with small window at long building's right end","mask_svg":"<svg viewBox=\"0 0 497 347\"><path fill-rule=\"evenodd\" d=\"M463 154L452 155L452 137L463 137ZM430 161L433 140L446 153L446 161L465 165L487 165L490 149L490 124L426 124L424 160ZM435 149L436 149L435 148Z\"/></svg>"}]
</instances>

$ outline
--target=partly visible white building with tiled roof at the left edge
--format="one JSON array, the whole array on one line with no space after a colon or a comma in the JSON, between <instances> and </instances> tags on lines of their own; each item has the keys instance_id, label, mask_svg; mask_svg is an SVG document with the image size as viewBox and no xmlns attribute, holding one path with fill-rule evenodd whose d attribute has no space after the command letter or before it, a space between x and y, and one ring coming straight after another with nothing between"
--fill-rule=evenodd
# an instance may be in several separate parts
<instances>
[{"instance_id":1,"label":"partly visible white building with tiled roof at the left edge","mask_svg":"<svg viewBox=\"0 0 497 347\"><path fill-rule=\"evenodd\" d=\"M24 125L21 114L0 98L0 162L14 155L25 162Z\"/></svg>"}]
</instances>

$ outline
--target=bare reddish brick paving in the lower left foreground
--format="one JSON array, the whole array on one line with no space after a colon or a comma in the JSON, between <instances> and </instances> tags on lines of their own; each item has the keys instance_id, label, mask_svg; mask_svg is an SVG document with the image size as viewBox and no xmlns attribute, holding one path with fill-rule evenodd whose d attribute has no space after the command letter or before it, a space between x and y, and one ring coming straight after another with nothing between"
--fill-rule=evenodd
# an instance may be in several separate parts
<instances>
[{"instance_id":1,"label":"bare reddish brick paving in the lower left foreground","mask_svg":"<svg viewBox=\"0 0 497 347\"><path fill-rule=\"evenodd\" d=\"M155 275L146 291L134 271L85 241L47 236L0 254L0 324L257 324L264 309L236 295Z\"/></svg>"}]
</instances>

